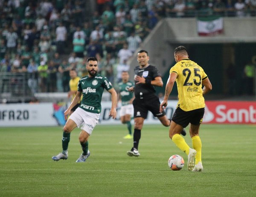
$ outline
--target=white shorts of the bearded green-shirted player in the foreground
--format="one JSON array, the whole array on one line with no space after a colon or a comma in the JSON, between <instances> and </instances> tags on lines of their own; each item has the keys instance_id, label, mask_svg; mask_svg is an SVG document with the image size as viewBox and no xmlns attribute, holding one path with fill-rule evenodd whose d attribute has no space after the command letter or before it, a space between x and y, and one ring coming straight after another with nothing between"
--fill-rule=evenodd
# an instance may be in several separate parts
<instances>
[{"instance_id":1,"label":"white shorts of the bearded green-shirted player in the foreground","mask_svg":"<svg viewBox=\"0 0 256 197\"><path fill-rule=\"evenodd\" d=\"M91 113L78 107L69 118L76 123L78 128L81 128L90 135L99 121L99 115L100 114Z\"/></svg>"}]
</instances>

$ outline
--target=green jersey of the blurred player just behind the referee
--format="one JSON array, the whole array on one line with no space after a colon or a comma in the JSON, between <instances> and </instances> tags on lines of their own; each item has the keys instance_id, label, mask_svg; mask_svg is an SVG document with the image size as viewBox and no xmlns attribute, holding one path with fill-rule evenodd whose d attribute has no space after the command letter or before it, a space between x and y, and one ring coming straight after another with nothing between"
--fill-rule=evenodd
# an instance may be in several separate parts
<instances>
[{"instance_id":1,"label":"green jersey of the blurred player just behind the referee","mask_svg":"<svg viewBox=\"0 0 256 197\"><path fill-rule=\"evenodd\" d=\"M131 91L128 91L128 89L134 86L134 83L131 81L128 81L126 83L120 82L118 83L118 86L119 86L122 106L130 104L130 100L133 97L133 93Z\"/></svg>"}]
</instances>

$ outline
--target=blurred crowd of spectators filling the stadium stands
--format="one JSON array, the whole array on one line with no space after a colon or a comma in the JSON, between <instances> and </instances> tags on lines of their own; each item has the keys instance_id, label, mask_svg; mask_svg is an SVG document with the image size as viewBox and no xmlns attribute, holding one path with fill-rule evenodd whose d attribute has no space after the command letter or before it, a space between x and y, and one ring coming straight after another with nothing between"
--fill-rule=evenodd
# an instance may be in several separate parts
<instances>
[{"instance_id":1,"label":"blurred crowd of spectators filling the stadium stands","mask_svg":"<svg viewBox=\"0 0 256 197\"><path fill-rule=\"evenodd\" d=\"M82 77L87 57L97 57L99 72L115 86L161 18L256 13L256 0L97 0L90 16L86 3L0 0L0 75L26 74L32 93L63 92L70 69ZM1 92L9 91L7 80L0 81Z\"/></svg>"}]
</instances>

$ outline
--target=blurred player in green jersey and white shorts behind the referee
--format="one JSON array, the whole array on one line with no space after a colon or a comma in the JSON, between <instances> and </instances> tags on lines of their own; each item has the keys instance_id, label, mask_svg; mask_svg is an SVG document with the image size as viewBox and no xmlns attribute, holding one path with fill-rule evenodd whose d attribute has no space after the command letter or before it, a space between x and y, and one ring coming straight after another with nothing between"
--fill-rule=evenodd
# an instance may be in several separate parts
<instances>
[{"instance_id":1,"label":"blurred player in green jersey and white shorts behind the referee","mask_svg":"<svg viewBox=\"0 0 256 197\"><path fill-rule=\"evenodd\" d=\"M129 88L134 86L134 83L129 81L128 71L122 71L122 82L118 83L119 93L117 98L121 100L122 106L120 108L120 119L123 124L127 125L129 133L124 137L124 139L132 139L131 133L131 117L134 114L134 108L132 101L134 100L134 94L128 91Z\"/></svg>"}]
</instances>

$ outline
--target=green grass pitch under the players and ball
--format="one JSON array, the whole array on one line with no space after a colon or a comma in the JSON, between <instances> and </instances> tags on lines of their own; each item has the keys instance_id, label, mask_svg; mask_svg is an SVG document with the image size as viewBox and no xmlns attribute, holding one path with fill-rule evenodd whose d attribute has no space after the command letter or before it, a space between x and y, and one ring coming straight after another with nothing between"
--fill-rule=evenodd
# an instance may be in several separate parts
<instances>
[{"instance_id":1,"label":"green grass pitch under the players and ball","mask_svg":"<svg viewBox=\"0 0 256 197\"><path fill-rule=\"evenodd\" d=\"M128 157L133 140L124 140L124 125L97 125L89 139L85 163L79 129L71 134L69 157L55 162L61 151L61 127L0 127L1 197L255 197L256 126L201 126L203 172L186 168L180 151L162 125L145 125L140 157ZM188 128L186 128L188 132ZM185 137L191 146L189 135ZM181 155L185 166L169 169L167 161Z\"/></svg>"}]
</instances>

